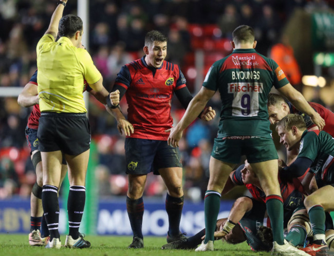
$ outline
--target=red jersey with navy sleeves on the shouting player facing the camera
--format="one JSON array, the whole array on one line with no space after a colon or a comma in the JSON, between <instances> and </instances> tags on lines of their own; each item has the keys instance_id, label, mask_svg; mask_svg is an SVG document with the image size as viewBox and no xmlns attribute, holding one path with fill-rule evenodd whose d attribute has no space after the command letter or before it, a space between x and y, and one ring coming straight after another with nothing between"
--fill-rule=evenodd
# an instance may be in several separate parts
<instances>
[{"instance_id":1,"label":"red jersey with navy sleeves on the shouting player facing the camera","mask_svg":"<svg viewBox=\"0 0 334 256\"><path fill-rule=\"evenodd\" d=\"M163 61L160 68L154 68L143 57L123 66L115 84L126 89L127 119L135 130L129 137L167 140L165 130L173 125L173 92L185 87L179 66Z\"/></svg>"}]
</instances>

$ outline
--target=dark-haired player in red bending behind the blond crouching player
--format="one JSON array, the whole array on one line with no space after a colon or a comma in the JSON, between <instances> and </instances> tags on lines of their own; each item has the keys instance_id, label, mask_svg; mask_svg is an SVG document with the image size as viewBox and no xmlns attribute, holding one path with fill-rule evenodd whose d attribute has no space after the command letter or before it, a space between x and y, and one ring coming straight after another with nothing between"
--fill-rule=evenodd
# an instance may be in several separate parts
<instances>
[{"instance_id":1,"label":"dark-haired player in red bending behind the blond crouching player","mask_svg":"<svg viewBox=\"0 0 334 256\"><path fill-rule=\"evenodd\" d=\"M319 113L319 115L325 120L326 125L324 126L324 131L329 133L332 137L334 136L334 113L332 113L326 107L315 103L315 102L308 102L311 107L315 111ZM269 121L271 124L276 124L279 122L283 117L288 114L296 114L303 117L307 130L318 130L317 125L315 125L308 115L303 114L298 109L296 109L289 101L286 101L281 95L279 94L269 94L268 96L268 114L269 114ZM290 165L297 157L297 151L287 151L287 160L286 163Z\"/></svg>"}]
</instances>

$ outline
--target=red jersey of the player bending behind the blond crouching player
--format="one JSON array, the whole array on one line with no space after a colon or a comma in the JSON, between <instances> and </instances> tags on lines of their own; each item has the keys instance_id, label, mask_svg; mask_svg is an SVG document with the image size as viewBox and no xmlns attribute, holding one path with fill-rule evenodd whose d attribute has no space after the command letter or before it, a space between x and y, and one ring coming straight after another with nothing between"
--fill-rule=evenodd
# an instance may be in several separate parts
<instances>
[{"instance_id":1,"label":"red jersey of the player bending behind the blond crouching player","mask_svg":"<svg viewBox=\"0 0 334 256\"><path fill-rule=\"evenodd\" d=\"M312 122L311 118L308 115L305 115L304 113L300 112L290 102L287 103L290 108L291 114L300 115L304 118L307 129L311 129L314 126L317 126ZM308 104L310 104L310 106L313 107L313 109L316 112L318 112L319 115L325 120L326 124L324 127L324 131L326 133L329 133L332 137L334 137L334 113L321 104L315 102L308 102Z\"/></svg>"}]
</instances>

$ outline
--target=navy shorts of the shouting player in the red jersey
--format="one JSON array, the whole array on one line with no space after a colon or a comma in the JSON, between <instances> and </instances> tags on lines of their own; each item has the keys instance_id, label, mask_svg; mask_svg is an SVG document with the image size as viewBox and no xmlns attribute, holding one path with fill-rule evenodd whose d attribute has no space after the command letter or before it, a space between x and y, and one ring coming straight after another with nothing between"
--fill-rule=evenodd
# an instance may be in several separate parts
<instances>
[{"instance_id":1,"label":"navy shorts of the shouting player in the red jersey","mask_svg":"<svg viewBox=\"0 0 334 256\"><path fill-rule=\"evenodd\" d=\"M125 160L127 174L159 174L161 168L182 167L177 148L165 140L126 138Z\"/></svg>"}]
</instances>

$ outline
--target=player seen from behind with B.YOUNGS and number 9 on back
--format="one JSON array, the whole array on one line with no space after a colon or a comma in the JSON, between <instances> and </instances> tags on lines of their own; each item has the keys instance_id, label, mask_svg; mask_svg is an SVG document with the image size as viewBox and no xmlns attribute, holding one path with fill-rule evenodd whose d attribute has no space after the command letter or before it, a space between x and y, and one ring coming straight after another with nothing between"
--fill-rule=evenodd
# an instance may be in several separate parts
<instances>
[{"instance_id":1,"label":"player seen from behind with B.YOUNGS and number 9 on back","mask_svg":"<svg viewBox=\"0 0 334 256\"><path fill-rule=\"evenodd\" d=\"M205 196L206 238L196 250L213 250L213 234L219 212L221 191L229 173L246 155L266 194L266 205L273 230L273 252L301 253L284 241L283 200L277 180L277 152L269 129L267 98L274 85L295 106L308 114L322 129L324 120L303 95L286 79L271 59L255 51L254 31L239 26L232 34L234 50L216 61L208 71L200 91L189 103L180 122L171 129L169 143L178 147L182 132L198 116L219 90L221 113L219 131L210 159L210 179Z\"/></svg>"}]
</instances>

